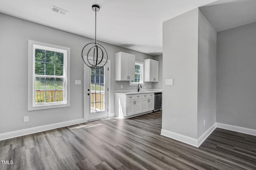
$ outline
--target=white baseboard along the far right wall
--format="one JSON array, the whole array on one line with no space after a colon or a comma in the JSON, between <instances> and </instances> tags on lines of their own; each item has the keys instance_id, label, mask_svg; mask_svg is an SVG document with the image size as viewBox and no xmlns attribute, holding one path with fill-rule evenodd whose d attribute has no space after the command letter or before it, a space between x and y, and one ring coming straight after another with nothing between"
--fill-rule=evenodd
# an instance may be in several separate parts
<instances>
[{"instance_id":1,"label":"white baseboard along the far right wall","mask_svg":"<svg viewBox=\"0 0 256 170\"><path fill-rule=\"evenodd\" d=\"M216 127L220 128L220 129L226 129L226 130L230 130L230 131L235 131L235 132L240 132L240 133L245 133L248 135L256 136L255 129L249 129L246 127L239 127L239 126L228 125L228 124L217 123L217 122L216 122Z\"/></svg>"}]
</instances>

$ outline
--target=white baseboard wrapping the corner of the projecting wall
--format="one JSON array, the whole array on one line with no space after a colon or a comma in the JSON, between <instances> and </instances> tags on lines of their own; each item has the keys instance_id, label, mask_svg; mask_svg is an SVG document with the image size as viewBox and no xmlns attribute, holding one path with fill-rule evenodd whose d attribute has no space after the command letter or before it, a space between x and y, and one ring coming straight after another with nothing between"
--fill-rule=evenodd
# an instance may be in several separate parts
<instances>
[{"instance_id":1,"label":"white baseboard wrapping the corner of the projecting wall","mask_svg":"<svg viewBox=\"0 0 256 170\"><path fill-rule=\"evenodd\" d=\"M188 145L192 145L194 147L200 147L200 145L207 139L207 137L216 129L216 123L214 123L204 134L202 134L198 139L194 139L192 137L187 137L185 135L180 135L178 133L174 133L171 131L167 131L162 129L161 135L165 137L169 137L171 139L175 139L177 141L186 143Z\"/></svg>"}]
</instances>

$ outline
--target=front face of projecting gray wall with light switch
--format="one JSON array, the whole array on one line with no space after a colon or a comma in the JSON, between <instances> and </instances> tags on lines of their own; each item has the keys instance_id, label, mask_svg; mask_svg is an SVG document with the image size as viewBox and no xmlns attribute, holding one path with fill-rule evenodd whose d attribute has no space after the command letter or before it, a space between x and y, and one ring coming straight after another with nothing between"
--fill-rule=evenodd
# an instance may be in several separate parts
<instances>
[{"instance_id":1,"label":"front face of projecting gray wall with light switch","mask_svg":"<svg viewBox=\"0 0 256 170\"><path fill-rule=\"evenodd\" d=\"M162 129L197 138L198 9L163 22Z\"/></svg>"}]
</instances>

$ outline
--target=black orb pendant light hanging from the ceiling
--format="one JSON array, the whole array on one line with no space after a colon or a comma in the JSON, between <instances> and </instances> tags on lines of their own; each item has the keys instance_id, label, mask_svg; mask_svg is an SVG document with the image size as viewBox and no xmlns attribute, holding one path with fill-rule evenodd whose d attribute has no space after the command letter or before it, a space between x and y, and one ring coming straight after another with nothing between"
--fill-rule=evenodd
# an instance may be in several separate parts
<instances>
[{"instance_id":1,"label":"black orb pendant light hanging from the ceiling","mask_svg":"<svg viewBox=\"0 0 256 170\"><path fill-rule=\"evenodd\" d=\"M95 42L84 46L82 59L90 68L102 68L108 60L108 54L102 45L96 43L96 12L100 10L100 6L94 4L92 5L92 10L95 11Z\"/></svg>"}]
</instances>

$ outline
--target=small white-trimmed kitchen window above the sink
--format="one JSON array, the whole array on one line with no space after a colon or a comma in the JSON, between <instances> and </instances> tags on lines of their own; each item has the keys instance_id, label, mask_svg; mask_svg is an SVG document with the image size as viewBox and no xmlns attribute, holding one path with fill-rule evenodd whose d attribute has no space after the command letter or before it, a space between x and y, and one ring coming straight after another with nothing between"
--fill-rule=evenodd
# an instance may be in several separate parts
<instances>
[{"instance_id":1,"label":"small white-trimmed kitchen window above the sink","mask_svg":"<svg viewBox=\"0 0 256 170\"><path fill-rule=\"evenodd\" d=\"M134 81L130 81L130 86L138 86L138 84L143 84L143 65L143 62L135 61L135 79Z\"/></svg>"}]
</instances>

